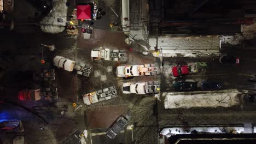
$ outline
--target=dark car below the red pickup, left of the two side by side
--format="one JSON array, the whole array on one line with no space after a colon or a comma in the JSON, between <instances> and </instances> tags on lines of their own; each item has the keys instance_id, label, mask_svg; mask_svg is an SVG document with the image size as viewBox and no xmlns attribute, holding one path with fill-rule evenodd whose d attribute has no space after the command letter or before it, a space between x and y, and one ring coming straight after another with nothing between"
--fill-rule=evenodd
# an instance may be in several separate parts
<instances>
[{"instance_id":1,"label":"dark car below the red pickup, left of the two side by side","mask_svg":"<svg viewBox=\"0 0 256 144\"><path fill-rule=\"evenodd\" d=\"M178 81L173 83L175 91L195 91L197 88L197 82L195 81Z\"/></svg>"}]
</instances>

